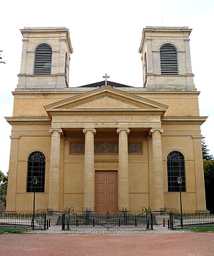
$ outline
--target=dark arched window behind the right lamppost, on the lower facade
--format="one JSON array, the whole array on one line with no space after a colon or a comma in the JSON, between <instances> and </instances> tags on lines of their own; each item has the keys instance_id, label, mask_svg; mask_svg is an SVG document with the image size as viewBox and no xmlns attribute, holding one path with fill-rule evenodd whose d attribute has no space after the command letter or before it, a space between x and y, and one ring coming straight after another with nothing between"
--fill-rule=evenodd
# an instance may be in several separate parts
<instances>
[{"instance_id":1,"label":"dark arched window behind the right lamppost, on the lower facade","mask_svg":"<svg viewBox=\"0 0 214 256\"><path fill-rule=\"evenodd\" d=\"M186 191L185 159L179 151L169 153L167 157L168 191L179 192L177 178L182 177L181 191Z\"/></svg>"}]
</instances>

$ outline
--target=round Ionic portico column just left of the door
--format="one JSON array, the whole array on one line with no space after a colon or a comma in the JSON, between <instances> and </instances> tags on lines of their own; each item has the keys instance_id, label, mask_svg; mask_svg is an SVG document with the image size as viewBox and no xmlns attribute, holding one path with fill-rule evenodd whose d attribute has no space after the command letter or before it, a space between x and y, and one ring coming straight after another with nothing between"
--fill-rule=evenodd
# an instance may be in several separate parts
<instances>
[{"instance_id":1,"label":"round Ionic portico column just left of the door","mask_svg":"<svg viewBox=\"0 0 214 256\"><path fill-rule=\"evenodd\" d=\"M96 129L85 128L85 162L84 162L84 208L94 210L95 184L94 184L94 133Z\"/></svg>"}]
</instances>

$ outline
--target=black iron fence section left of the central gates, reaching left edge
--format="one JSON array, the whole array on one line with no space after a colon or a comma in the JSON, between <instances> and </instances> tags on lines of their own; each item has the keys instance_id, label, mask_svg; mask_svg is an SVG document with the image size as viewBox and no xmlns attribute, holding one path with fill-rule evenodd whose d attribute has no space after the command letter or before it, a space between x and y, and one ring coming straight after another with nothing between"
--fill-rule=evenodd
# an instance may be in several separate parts
<instances>
[{"instance_id":1,"label":"black iron fence section left of the central gates, reaching left edge","mask_svg":"<svg viewBox=\"0 0 214 256\"><path fill-rule=\"evenodd\" d=\"M33 214L0 214L0 227L14 227L23 229L33 228ZM35 214L34 229L48 229L49 221L46 214Z\"/></svg>"}]
</instances>

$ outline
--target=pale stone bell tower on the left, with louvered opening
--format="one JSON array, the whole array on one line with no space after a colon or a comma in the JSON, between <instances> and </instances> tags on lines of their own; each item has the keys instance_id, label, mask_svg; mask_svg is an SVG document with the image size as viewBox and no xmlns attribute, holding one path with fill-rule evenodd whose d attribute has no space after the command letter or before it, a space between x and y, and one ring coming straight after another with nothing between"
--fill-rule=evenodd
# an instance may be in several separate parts
<instances>
[{"instance_id":1,"label":"pale stone bell tower on the left, with louvered opening","mask_svg":"<svg viewBox=\"0 0 214 256\"><path fill-rule=\"evenodd\" d=\"M17 90L47 90L68 87L70 54L66 27L25 27Z\"/></svg>"}]
</instances>

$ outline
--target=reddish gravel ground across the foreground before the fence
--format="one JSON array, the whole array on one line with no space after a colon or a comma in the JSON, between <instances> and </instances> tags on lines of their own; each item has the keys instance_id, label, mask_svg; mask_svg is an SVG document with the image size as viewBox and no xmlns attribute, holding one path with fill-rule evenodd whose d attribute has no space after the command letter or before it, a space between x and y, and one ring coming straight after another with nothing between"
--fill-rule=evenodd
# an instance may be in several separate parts
<instances>
[{"instance_id":1,"label":"reddish gravel ground across the foreground before the fence","mask_svg":"<svg viewBox=\"0 0 214 256\"><path fill-rule=\"evenodd\" d=\"M1 235L0 255L214 256L214 233L169 231L155 226L154 231L140 234L78 235L55 226L49 231Z\"/></svg>"}]
</instances>

